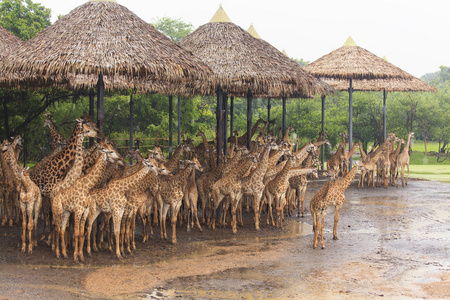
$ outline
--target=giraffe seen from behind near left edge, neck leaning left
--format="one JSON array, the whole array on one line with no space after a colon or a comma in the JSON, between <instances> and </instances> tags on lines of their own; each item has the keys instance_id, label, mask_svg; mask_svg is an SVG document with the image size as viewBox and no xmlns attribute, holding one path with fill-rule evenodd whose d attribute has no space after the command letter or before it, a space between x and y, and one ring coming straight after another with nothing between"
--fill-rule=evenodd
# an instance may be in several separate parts
<instances>
[{"instance_id":1,"label":"giraffe seen from behind near left edge, neck leaning left","mask_svg":"<svg viewBox=\"0 0 450 300\"><path fill-rule=\"evenodd\" d=\"M36 229L42 204L41 193L36 184L31 181L29 174L24 174L26 169L19 166L15 155L15 143L5 145L2 151L6 152L5 159L11 168L12 175L20 183L18 189L19 206L22 212L22 252L27 251L26 231L28 230L28 253L31 254L33 246L37 246Z\"/></svg>"}]
</instances>

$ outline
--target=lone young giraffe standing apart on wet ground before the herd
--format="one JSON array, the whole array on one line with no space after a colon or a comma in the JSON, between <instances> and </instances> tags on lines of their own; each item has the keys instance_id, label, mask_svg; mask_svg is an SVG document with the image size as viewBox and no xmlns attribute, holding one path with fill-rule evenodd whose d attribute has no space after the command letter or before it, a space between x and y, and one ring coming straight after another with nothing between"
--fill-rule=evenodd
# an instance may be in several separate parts
<instances>
[{"instance_id":1,"label":"lone young giraffe standing apart on wet ground before the herd","mask_svg":"<svg viewBox=\"0 0 450 300\"><path fill-rule=\"evenodd\" d=\"M314 248L317 247L318 235L320 234L322 249L325 249L325 243L323 240L323 228L329 205L333 205L336 208L336 211L334 213L333 239L338 239L337 224L339 222L339 214L342 205L345 201L344 192L353 182L353 179L355 179L359 167L360 165L358 162L342 179L336 180L331 184L327 183L326 185L329 185L329 187L328 191L324 193L324 196L317 197L316 199L313 198L314 201L311 200L311 214L313 216L314 223Z\"/></svg>"}]
</instances>

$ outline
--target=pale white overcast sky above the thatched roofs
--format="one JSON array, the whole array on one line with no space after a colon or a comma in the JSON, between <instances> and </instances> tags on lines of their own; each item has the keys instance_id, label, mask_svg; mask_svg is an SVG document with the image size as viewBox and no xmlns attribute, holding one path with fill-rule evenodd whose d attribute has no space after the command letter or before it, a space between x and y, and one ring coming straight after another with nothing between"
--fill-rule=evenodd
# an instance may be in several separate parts
<instances>
[{"instance_id":1,"label":"pale white overcast sky above the thatched roofs","mask_svg":"<svg viewBox=\"0 0 450 300\"><path fill-rule=\"evenodd\" d=\"M34 0L52 21L87 0ZM233 23L253 24L262 39L290 57L314 61L348 36L414 76L450 66L448 0L117 0L144 21L181 18L195 28L222 4Z\"/></svg>"}]
</instances>

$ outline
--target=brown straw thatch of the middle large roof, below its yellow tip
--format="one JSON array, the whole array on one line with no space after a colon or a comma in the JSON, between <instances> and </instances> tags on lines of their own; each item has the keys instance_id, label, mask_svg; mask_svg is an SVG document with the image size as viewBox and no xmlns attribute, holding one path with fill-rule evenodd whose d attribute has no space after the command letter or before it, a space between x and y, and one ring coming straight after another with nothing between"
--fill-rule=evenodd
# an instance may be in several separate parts
<instances>
[{"instance_id":1,"label":"brown straw thatch of the middle large roof, below its yellow tip","mask_svg":"<svg viewBox=\"0 0 450 300\"><path fill-rule=\"evenodd\" d=\"M220 83L229 95L310 97L327 93L324 84L273 46L252 37L231 22L200 26L179 42L208 65L214 73L209 93Z\"/></svg>"}]
</instances>

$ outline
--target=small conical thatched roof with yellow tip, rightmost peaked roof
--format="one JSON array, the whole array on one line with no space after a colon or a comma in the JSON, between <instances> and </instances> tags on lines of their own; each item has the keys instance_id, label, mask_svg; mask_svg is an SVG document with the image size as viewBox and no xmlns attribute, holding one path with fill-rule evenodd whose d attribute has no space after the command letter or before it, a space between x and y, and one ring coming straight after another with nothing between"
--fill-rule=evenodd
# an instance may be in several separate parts
<instances>
[{"instance_id":1,"label":"small conical thatched roof with yellow tip, rightmost peaked roof","mask_svg":"<svg viewBox=\"0 0 450 300\"><path fill-rule=\"evenodd\" d=\"M350 37L344 46L313 61L305 70L318 77L339 79L411 78L393 64L355 44Z\"/></svg>"}]
</instances>

